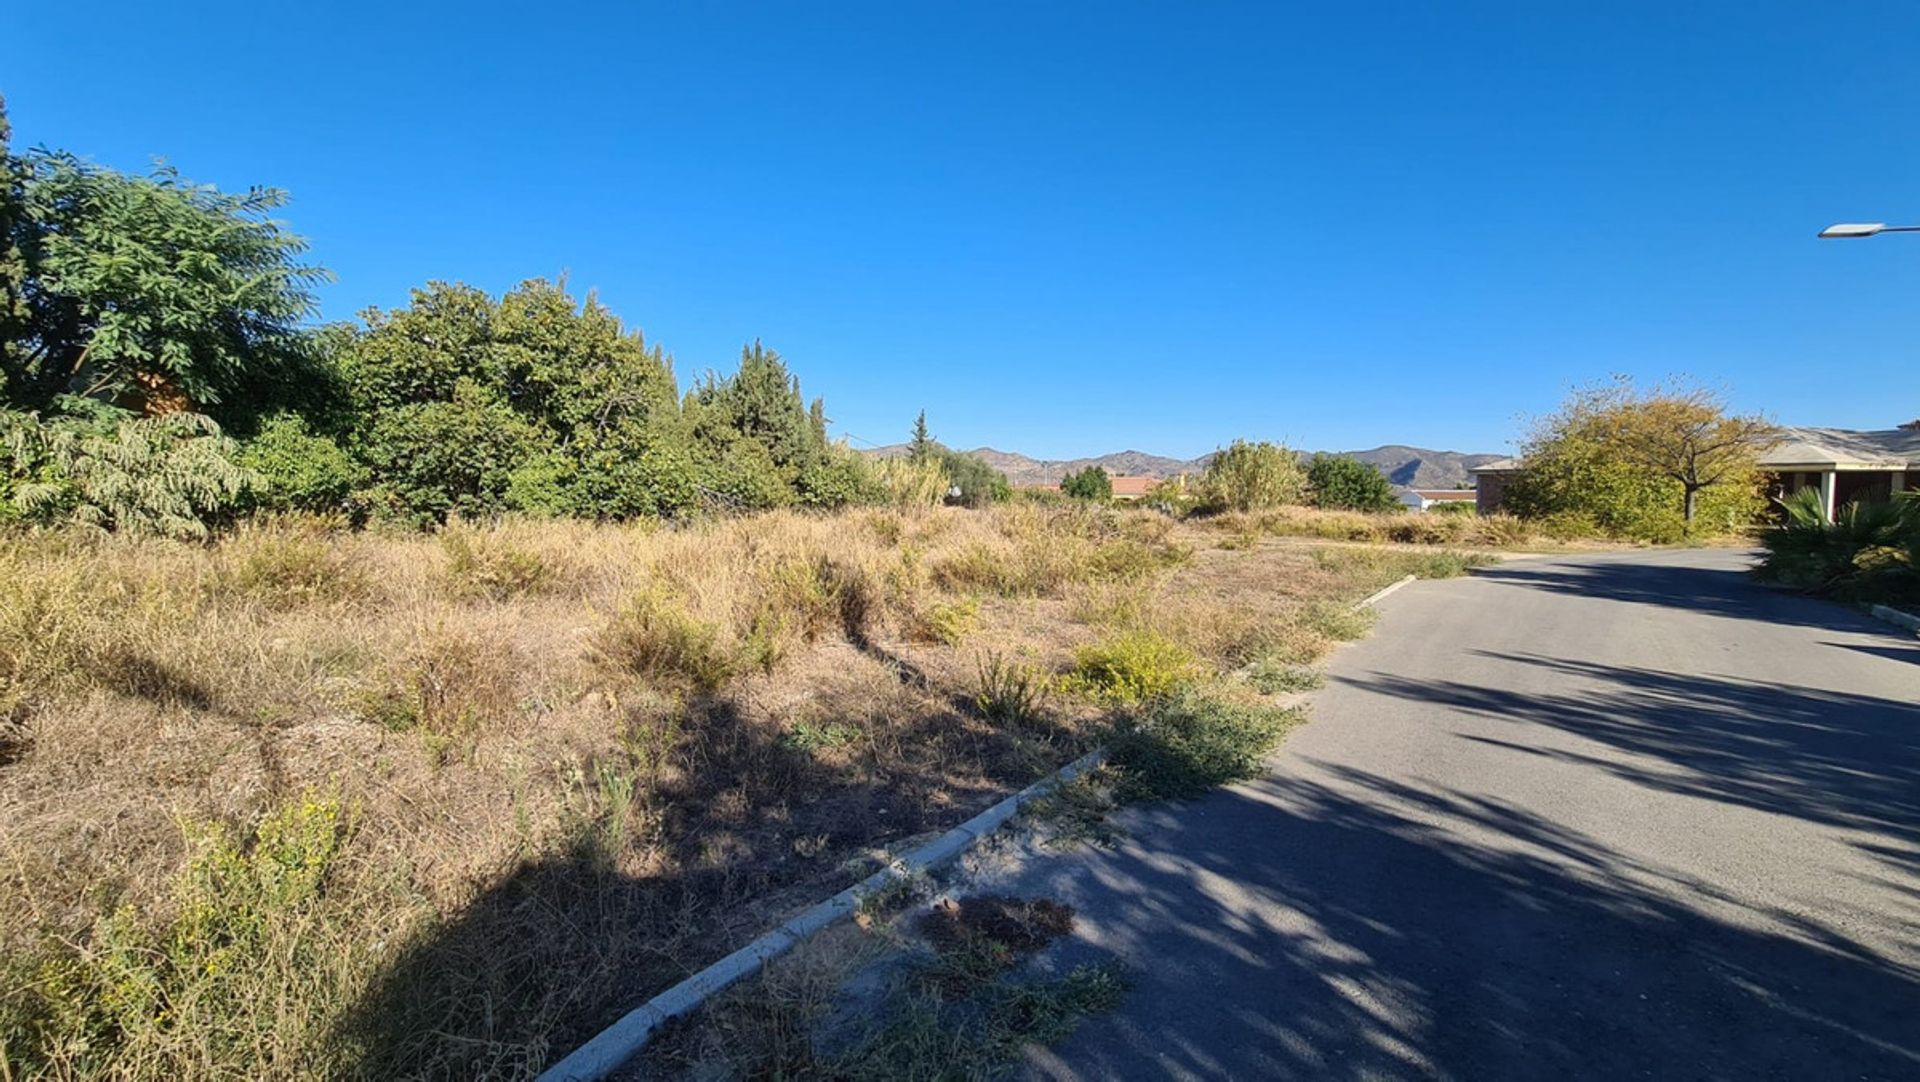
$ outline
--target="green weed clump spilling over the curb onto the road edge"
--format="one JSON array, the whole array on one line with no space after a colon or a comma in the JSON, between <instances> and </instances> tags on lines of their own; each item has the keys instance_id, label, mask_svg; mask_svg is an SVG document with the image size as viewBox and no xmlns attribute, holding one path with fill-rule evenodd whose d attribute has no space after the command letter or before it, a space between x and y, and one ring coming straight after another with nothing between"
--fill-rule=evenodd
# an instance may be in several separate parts
<instances>
[{"instance_id":1,"label":"green weed clump spilling over the curb onto the road edge","mask_svg":"<svg viewBox=\"0 0 1920 1082\"><path fill-rule=\"evenodd\" d=\"M1260 773L1300 710L1183 693L1123 717L1108 741L1123 800L1179 800Z\"/></svg>"}]
</instances>

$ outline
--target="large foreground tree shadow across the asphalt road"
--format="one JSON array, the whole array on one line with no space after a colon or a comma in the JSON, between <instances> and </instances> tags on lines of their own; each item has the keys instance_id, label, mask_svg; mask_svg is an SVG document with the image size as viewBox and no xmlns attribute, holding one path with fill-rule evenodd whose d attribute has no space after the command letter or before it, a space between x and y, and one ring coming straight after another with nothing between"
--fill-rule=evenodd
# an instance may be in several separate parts
<instances>
[{"instance_id":1,"label":"large foreground tree shadow across the asphalt road","mask_svg":"<svg viewBox=\"0 0 1920 1082\"><path fill-rule=\"evenodd\" d=\"M1056 861L1137 990L1044 1078L1912 1078L1920 975L1519 808L1271 777Z\"/></svg>"}]
</instances>

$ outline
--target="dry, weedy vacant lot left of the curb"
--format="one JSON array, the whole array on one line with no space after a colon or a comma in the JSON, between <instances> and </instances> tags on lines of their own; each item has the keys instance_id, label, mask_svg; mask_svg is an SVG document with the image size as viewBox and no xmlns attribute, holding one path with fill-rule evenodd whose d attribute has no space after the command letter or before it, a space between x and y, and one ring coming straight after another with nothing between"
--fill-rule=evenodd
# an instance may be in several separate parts
<instances>
[{"instance_id":1,"label":"dry, weedy vacant lot left of the curb","mask_svg":"<svg viewBox=\"0 0 1920 1082\"><path fill-rule=\"evenodd\" d=\"M1461 566L1046 506L0 539L0 1078L526 1074Z\"/></svg>"}]
</instances>

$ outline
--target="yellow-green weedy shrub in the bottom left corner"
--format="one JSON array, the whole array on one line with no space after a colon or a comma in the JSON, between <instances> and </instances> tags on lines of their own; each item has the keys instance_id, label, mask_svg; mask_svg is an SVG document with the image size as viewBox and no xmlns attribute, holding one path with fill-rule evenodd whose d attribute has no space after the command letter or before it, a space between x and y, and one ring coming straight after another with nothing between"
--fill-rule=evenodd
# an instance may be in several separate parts
<instances>
[{"instance_id":1,"label":"yellow-green weedy shrub in the bottom left corner","mask_svg":"<svg viewBox=\"0 0 1920 1082\"><path fill-rule=\"evenodd\" d=\"M165 917L113 909L8 990L0 1069L242 1076L240 1065L292 1065L323 1047L332 1003L378 950L342 934L328 909L348 813L307 794L240 835L221 823L184 833L190 856Z\"/></svg>"}]
</instances>

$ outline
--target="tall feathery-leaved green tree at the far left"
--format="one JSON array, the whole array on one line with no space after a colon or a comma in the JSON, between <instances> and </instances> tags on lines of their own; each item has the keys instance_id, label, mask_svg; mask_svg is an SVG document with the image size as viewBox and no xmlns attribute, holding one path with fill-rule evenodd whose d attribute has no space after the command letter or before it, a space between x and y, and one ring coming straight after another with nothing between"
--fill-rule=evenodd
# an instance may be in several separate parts
<instances>
[{"instance_id":1,"label":"tall feathery-leaved green tree at the far left","mask_svg":"<svg viewBox=\"0 0 1920 1082\"><path fill-rule=\"evenodd\" d=\"M273 219L286 196L131 176L0 142L0 380L17 409L58 395L134 412L207 411L303 368L323 270Z\"/></svg>"}]
</instances>

